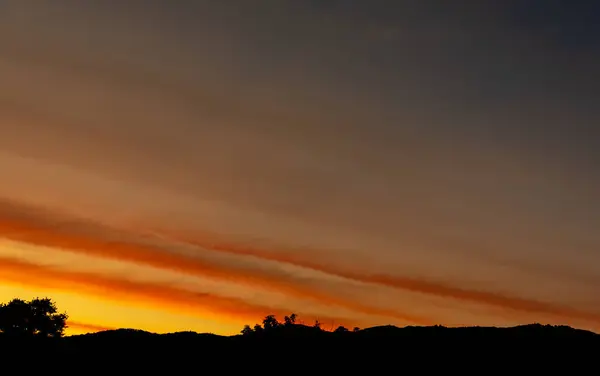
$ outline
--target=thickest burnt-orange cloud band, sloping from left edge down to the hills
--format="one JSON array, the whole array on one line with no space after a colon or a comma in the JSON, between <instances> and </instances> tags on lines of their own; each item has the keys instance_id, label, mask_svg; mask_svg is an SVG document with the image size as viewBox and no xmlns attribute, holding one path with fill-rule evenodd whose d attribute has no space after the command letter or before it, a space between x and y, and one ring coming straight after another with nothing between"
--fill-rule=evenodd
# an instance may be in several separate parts
<instances>
[{"instance_id":1,"label":"thickest burnt-orange cloud band, sloping from left edge down to the hills","mask_svg":"<svg viewBox=\"0 0 600 376\"><path fill-rule=\"evenodd\" d=\"M14 207L13 207L14 208ZM231 280L278 292L297 298L313 299L323 304L336 305L369 315L393 317L415 324L432 324L420 316L375 308L337 297L320 290L317 286L304 286L301 281L287 273L256 270L233 263L222 263L209 258L188 257L164 250L151 244L139 244L119 239L122 233L82 221L52 222L51 219L35 217L30 211L22 211L20 218L0 218L0 236L29 244L49 246L74 251L94 257L103 257L136 264L169 269L196 276ZM63 224L64 223L64 224Z\"/></svg>"}]
</instances>

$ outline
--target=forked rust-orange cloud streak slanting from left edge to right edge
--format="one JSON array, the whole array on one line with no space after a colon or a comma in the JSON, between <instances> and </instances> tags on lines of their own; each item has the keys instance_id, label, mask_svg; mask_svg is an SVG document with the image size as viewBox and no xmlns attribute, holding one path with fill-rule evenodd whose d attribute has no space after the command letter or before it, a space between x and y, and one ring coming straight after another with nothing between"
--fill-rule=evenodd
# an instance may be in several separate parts
<instances>
[{"instance_id":1,"label":"forked rust-orange cloud streak slanting from left edge to right edge","mask_svg":"<svg viewBox=\"0 0 600 376\"><path fill-rule=\"evenodd\" d=\"M369 307L351 299L338 297L316 285L304 285L302 279L289 273L268 268L249 268L243 263L223 262L210 258L212 252L226 253L242 257L255 257L276 263L307 268L330 276L365 284L376 284L393 289L455 299L476 304L489 305L501 309L525 313L548 314L558 318L582 319L600 322L600 314L581 311L560 304L523 299L515 296L479 291L453 286L447 283L424 279L364 273L332 266L327 259L320 262L318 252L307 249L289 250L257 248L249 244L228 242L217 235L204 234L202 240L193 240L167 232L153 230L169 243L160 243L157 238L134 237L123 231L82 221L76 218L60 218L56 214L40 215L32 208L4 203L0 216L0 236L11 240L36 245L69 250L93 257L109 258L133 262L162 269L169 269L192 276L205 276L258 288L274 290L304 299L313 299L328 305L337 305L369 315L387 316L415 324L433 324L432 318L402 313L395 310ZM6 215L12 212L13 215ZM17 214L18 213L18 214ZM54 216L54 218L53 218ZM176 252L182 244L193 246L194 253ZM321 254L326 254L321 252ZM304 256L300 256L304 255ZM314 257L308 258L307 255Z\"/></svg>"}]
</instances>

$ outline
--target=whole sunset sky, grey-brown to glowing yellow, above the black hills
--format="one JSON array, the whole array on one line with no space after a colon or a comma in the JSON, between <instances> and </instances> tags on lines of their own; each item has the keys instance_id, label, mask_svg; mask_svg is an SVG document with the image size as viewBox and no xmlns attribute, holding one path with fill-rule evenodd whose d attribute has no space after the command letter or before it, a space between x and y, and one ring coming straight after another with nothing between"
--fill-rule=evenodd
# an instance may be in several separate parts
<instances>
[{"instance_id":1,"label":"whole sunset sky, grey-brown to glowing yellow, above the black hills","mask_svg":"<svg viewBox=\"0 0 600 376\"><path fill-rule=\"evenodd\" d=\"M0 0L0 301L600 331L598 66L584 0Z\"/></svg>"}]
</instances>

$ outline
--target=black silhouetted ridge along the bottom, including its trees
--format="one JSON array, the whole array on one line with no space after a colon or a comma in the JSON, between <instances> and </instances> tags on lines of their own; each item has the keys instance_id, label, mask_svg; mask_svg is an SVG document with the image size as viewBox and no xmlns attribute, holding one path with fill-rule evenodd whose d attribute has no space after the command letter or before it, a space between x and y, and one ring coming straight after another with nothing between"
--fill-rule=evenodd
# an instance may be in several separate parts
<instances>
[{"instance_id":1,"label":"black silhouetted ridge along the bottom, including its trees","mask_svg":"<svg viewBox=\"0 0 600 376\"><path fill-rule=\"evenodd\" d=\"M419 373L466 369L511 373L542 369L578 374L597 367L600 335L568 326L511 328L378 326L333 331L297 324L296 315L278 322L269 315L241 334L195 332L155 334L135 329L64 336L66 313L48 298L0 304L0 356L5 363L88 372L261 372L325 371L368 374L390 370ZM400 368L401 369L400 369ZM404 368L402 368L404 367ZM566 367L566 368L565 368ZM586 371L587 372L587 371ZM94 372L95 373L95 372Z\"/></svg>"}]
</instances>

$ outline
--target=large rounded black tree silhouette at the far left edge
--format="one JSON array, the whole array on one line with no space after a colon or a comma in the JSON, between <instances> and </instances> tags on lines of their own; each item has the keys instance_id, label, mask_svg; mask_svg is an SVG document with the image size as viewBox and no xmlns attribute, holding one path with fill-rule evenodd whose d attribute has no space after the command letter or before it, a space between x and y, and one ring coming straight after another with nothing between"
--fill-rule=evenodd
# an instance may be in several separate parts
<instances>
[{"instance_id":1,"label":"large rounded black tree silhouette at the far left edge","mask_svg":"<svg viewBox=\"0 0 600 376\"><path fill-rule=\"evenodd\" d=\"M13 299L0 304L0 332L19 337L62 337L67 314L58 313L49 298Z\"/></svg>"}]
</instances>

